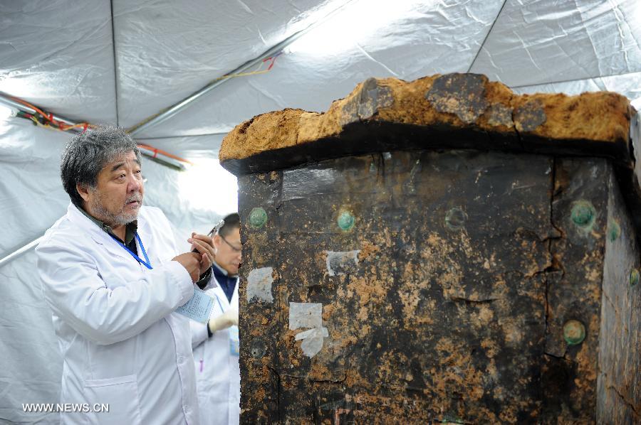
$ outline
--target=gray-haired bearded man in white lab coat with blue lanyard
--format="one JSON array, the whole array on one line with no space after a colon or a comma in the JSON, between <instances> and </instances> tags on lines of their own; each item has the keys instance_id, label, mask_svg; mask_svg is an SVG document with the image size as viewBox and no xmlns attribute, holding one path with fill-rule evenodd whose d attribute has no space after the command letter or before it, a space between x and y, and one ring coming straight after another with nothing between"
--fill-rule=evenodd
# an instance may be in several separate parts
<instances>
[{"instance_id":1,"label":"gray-haired bearded man in white lab coat with blue lanyard","mask_svg":"<svg viewBox=\"0 0 641 425\"><path fill-rule=\"evenodd\" d=\"M63 357L63 424L197 424L189 319L174 310L209 278L211 244L178 254L143 207L140 151L122 129L75 136L61 160L71 203L36 249ZM105 411L108 405L108 411ZM77 411L76 411L77 410Z\"/></svg>"}]
</instances>

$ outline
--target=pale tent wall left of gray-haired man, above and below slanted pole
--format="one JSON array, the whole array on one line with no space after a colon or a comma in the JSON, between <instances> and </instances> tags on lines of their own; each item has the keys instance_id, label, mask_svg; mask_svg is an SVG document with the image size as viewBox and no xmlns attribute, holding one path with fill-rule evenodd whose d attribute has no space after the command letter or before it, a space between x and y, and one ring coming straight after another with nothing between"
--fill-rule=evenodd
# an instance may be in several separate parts
<instances>
[{"instance_id":1,"label":"pale tent wall left of gray-haired man, above and below slanted pole","mask_svg":"<svg viewBox=\"0 0 641 425\"><path fill-rule=\"evenodd\" d=\"M68 135L11 120L0 127L0 252L40 237L66 209L58 175ZM0 254L1 257L4 255ZM33 250L0 268L0 419L24 421L21 404L55 402L62 360L51 310L43 300ZM53 423L47 419L48 423Z\"/></svg>"}]
</instances>

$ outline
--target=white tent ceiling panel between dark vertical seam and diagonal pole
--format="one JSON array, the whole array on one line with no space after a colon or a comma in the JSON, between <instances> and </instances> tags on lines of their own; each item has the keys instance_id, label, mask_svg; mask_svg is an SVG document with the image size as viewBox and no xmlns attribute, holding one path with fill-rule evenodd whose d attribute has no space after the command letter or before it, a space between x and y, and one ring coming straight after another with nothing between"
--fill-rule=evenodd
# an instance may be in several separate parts
<instances>
[{"instance_id":1,"label":"white tent ceiling panel between dark vertical seam and diagonal pole","mask_svg":"<svg viewBox=\"0 0 641 425\"><path fill-rule=\"evenodd\" d=\"M114 0L120 125L137 124L260 55L325 3Z\"/></svg>"}]
</instances>

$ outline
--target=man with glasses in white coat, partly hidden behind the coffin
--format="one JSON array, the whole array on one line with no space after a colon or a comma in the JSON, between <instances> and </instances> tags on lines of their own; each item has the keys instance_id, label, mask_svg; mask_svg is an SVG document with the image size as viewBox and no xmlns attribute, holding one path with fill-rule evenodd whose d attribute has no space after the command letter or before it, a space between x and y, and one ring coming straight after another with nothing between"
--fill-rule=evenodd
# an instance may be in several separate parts
<instances>
[{"instance_id":1,"label":"man with glasses in white coat, partly hidden behind the coffin","mask_svg":"<svg viewBox=\"0 0 641 425\"><path fill-rule=\"evenodd\" d=\"M192 345L201 424L236 425L240 416L238 269L241 264L240 219L224 217L214 235L212 281L207 290L214 310L207 325L192 321Z\"/></svg>"}]
</instances>

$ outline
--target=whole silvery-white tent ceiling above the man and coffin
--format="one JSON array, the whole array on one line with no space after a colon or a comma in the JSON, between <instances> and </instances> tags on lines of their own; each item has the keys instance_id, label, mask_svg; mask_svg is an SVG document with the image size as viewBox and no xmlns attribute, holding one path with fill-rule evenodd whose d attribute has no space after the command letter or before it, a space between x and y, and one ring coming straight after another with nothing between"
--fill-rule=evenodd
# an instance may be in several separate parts
<instances>
[{"instance_id":1,"label":"whole silvery-white tent ceiling above the man and coffin","mask_svg":"<svg viewBox=\"0 0 641 425\"><path fill-rule=\"evenodd\" d=\"M213 155L244 119L324 110L370 76L471 70L519 92L641 97L637 0L0 0L0 91L130 127L334 10L270 72L228 80L138 136L177 154L211 143Z\"/></svg>"}]
</instances>

